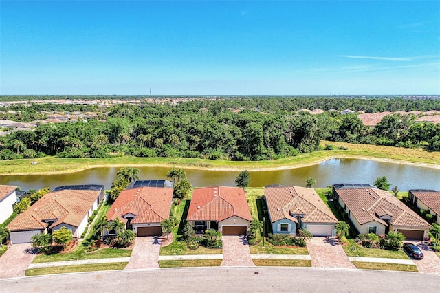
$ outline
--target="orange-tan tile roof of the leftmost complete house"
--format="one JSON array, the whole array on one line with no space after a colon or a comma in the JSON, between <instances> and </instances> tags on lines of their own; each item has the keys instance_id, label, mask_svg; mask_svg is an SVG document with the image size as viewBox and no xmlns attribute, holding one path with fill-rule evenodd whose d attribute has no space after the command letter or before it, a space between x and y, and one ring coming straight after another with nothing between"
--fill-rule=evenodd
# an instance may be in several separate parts
<instances>
[{"instance_id":1,"label":"orange-tan tile roof of the leftmost complete house","mask_svg":"<svg viewBox=\"0 0 440 293\"><path fill-rule=\"evenodd\" d=\"M45 219L55 219L50 228L59 224L78 227L99 196L100 191L62 190L47 193L28 210L13 219L8 229L41 230L47 226L42 222Z\"/></svg>"}]
</instances>

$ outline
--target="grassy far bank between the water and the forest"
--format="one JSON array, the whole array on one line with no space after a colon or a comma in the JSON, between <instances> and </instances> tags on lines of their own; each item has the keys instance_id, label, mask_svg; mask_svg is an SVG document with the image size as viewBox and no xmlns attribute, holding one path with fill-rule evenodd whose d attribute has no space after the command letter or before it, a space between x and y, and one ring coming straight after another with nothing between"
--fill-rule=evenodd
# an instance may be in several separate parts
<instances>
[{"instance_id":1,"label":"grassy far bank between the water and the forest","mask_svg":"<svg viewBox=\"0 0 440 293\"><path fill-rule=\"evenodd\" d=\"M56 173L73 173L85 169L99 167L122 166L180 166L185 169L206 169L214 171L271 171L294 169L304 166L320 164L333 158L353 158L393 162L399 164L413 164L434 169L440 169L440 152L428 152L421 149L404 149L394 146L373 146L369 144L348 144L344 142L322 142L335 148L340 146L347 150L334 149L329 151L315 151L304 153L296 157L271 161L237 162L226 160L206 160L196 158L72 158L63 159L46 157L39 159L19 159L0 161L0 175L50 175ZM30 164L38 162L38 164Z\"/></svg>"}]
</instances>

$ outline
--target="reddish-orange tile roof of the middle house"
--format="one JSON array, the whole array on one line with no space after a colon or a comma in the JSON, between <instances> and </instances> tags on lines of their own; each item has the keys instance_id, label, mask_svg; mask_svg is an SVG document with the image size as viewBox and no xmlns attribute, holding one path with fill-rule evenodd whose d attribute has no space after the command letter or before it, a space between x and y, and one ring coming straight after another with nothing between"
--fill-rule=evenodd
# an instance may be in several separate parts
<instances>
[{"instance_id":1,"label":"reddish-orange tile roof of the middle house","mask_svg":"<svg viewBox=\"0 0 440 293\"><path fill-rule=\"evenodd\" d=\"M252 221L245 191L239 187L213 186L192 192L188 221L223 221L232 216Z\"/></svg>"}]
</instances>

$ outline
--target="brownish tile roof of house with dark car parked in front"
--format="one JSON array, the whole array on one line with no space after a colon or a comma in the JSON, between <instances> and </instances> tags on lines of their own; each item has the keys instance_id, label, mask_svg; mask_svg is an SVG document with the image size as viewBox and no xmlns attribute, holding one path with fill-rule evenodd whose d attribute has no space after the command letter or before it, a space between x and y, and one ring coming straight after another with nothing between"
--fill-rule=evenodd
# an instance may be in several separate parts
<instances>
[{"instance_id":1,"label":"brownish tile roof of house with dark car parked in front","mask_svg":"<svg viewBox=\"0 0 440 293\"><path fill-rule=\"evenodd\" d=\"M351 214L361 225L370 221L378 221L388 226L387 221L380 217L390 215L392 216L389 221L391 225L430 227L430 224L388 191L378 188L351 188L336 189L336 193L347 204Z\"/></svg>"}]
</instances>

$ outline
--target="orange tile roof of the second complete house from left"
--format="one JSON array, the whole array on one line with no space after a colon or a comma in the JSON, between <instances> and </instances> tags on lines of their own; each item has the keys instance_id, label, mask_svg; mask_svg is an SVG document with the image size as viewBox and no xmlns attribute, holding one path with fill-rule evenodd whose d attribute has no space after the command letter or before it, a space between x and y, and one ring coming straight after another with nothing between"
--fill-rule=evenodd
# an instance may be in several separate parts
<instances>
[{"instance_id":1,"label":"orange tile roof of the second complete house from left","mask_svg":"<svg viewBox=\"0 0 440 293\"><path fill-rule=\"evenodd\" d=\"M109 221L122 216L133 214L131 224L160 223L170 217L171 203L173 202L173 188L141 187L126 189L113 202L107 217Z\"/></svg>"}]
</instances>

